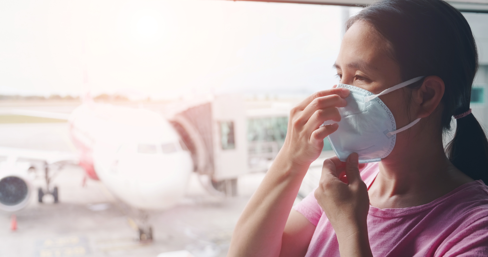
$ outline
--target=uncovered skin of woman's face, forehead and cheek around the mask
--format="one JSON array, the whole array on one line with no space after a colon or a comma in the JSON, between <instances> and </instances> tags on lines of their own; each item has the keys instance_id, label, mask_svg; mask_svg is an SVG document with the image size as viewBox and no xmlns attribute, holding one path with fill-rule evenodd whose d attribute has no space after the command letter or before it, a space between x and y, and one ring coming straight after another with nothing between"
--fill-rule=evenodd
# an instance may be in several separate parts
<instances>
[{"instance_id":1,"label":"uncovered skin of woman's face, forehead and cheek around the mask","mask_svg":"<svg viewBox=\"0 0 488 257\"><path fill-rule=\"evenodd\" d=\"M340 83L380 93L402 82L400 67L391 57L391 47L378 32L365 21L356 21L344 35L339 56L334 64ZM408 102L411 91L398 89L380 96L391 110L396 128L402 128L415 120L418 106ZM403 152L409 133L397 134L395 148L391 155Z\"/></svg>"}]
</instances>

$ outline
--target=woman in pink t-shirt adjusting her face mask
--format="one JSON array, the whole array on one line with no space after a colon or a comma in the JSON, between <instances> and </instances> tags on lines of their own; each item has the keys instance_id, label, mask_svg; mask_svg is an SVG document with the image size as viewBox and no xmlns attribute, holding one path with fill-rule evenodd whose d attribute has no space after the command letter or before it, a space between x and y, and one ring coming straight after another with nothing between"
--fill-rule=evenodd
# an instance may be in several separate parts
<instances>
[{"instance_id":1,"label":"woman in pink t-shirt adjusting her face mask","mask_svg":"<svg viewBox=\"0 0 488 257\"><path fill-rule=\"evenodd\" d=\"M381 0L348 21L334 66L341 84L291 110L228 256L488 256L488 142L469 109L477 53L462 14L442 0ZM389 141L367 152L382 133ZM292 209L326 136L339 157Z\"/></svg>"}]
</instances>

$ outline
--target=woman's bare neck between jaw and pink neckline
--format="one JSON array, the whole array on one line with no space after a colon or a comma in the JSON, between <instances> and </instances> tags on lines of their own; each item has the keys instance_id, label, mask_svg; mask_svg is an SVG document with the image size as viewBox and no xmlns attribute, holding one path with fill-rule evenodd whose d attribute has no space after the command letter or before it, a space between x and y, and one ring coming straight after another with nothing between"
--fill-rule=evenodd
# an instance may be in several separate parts
<instances>
[{"instance_id":1,"label":"woman's bare neck between jaw and pink neckline","mask_svg":"<svg viewBox=\"0 0 488 257\"><path fill-rule=\"evenodd\" d=\"M380 172L369 189L371 205L379 208L418 206L472 181L447 159L442 133L403 133L397 137L400 141L397 144L407 147L394 149L382 159Z\"/></svg>"}]
</instances>

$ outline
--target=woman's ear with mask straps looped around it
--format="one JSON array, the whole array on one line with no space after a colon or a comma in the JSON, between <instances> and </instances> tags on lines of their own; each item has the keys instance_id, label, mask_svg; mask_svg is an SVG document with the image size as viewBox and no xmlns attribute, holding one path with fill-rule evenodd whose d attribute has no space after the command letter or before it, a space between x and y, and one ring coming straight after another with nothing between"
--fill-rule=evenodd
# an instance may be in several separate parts
<instances>
[{"instance_id":1,"label":"woman's ear with mask straps looped around it","mask_svg":"<svg viewBox=\"0 0 488 257\"><path fill-rule=\"evenodd\" d=\"M444 81L438 76L427 76L422 86L413 92L412 97L418 104L418 118L429 116L439 106L444 95Z\"/></svg>"}]
</instances>

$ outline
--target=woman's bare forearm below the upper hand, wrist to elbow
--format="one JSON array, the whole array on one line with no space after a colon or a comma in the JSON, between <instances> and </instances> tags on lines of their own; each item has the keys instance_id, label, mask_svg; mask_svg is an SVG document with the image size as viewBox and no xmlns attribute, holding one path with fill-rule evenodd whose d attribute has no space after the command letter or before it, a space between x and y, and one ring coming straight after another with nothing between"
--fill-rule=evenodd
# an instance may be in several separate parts
<instances>
[{"instance_id":1,"label":"woman's bare forearm below the upper hand, wrist to elbow","mask_svg":"<svg viewBox=\"0 0 488 257\"><path fill-rule=\"evenodd\" d=\"M237 222L229 257L279 256L286 220L306 169L280 155L276 158Z\"/></svg>"}]
</instances>

